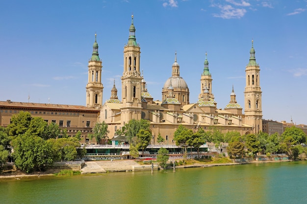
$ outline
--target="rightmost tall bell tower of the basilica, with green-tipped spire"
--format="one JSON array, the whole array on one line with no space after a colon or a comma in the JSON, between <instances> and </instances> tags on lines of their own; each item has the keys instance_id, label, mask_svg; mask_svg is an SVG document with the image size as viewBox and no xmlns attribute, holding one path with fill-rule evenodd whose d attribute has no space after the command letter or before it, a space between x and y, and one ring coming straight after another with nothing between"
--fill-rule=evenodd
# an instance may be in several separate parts
<instances>
[{"instance_id":1,"label":"rightmost tall bell tower of the basilica, with green-tipped spire","mask_svg":"<svg viewBox=\"0 0 307 204\"><path fill-rule=\"evenodd\" d=\"M256 63L254 41L250 51L250 62L246 66L246 86L244 91L245 123L253 126L253 133L262 131L262 105L260 87L260 68Z\"/></svg>"}]
</instances>

